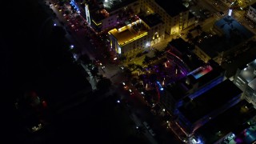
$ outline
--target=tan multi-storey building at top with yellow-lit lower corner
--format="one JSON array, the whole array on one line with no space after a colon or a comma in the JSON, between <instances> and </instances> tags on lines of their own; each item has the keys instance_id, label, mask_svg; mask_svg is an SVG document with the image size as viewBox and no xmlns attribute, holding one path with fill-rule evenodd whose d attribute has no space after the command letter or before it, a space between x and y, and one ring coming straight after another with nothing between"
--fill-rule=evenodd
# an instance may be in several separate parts
<instances>
[{"instance_id":1,"label":"tan multi-storey building at top with yellow-lit lower corner","mask_svg":"<svg viewBox=\"0 0 256 144\"><path fill-rule=\"evenodd\" d=\"M167 34L179 34L181 30L195 23L190 11L181 1L174 0L166 5L162 0L140 0L142 11L146 14L158 13L166 25Z\"/></svg>"}]
</instances>

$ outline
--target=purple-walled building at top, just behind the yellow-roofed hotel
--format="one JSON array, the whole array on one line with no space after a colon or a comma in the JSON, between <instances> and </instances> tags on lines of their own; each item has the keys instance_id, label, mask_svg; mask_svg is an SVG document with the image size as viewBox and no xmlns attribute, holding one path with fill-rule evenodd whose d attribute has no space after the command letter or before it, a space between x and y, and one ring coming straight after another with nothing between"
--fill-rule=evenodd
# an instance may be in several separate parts
<instances>
[{"instance_id":1,"label":"purple-walled building at top, just behind the yellow-roofed hotel","mask_svg":"<svg viewBox=\"0 0 256 144\"><path fill-rule=\"evenodd\" d=\"M140 11L138 0L101 0L86 4L89 5L91 26L97 31L118 26Z\"/></svg>"}]
</instances>

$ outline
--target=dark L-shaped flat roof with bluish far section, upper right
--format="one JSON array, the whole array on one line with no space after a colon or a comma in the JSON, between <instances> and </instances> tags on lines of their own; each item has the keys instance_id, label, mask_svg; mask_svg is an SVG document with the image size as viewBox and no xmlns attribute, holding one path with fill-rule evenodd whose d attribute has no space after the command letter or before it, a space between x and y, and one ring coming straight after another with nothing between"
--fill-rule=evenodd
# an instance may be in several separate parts
<instances>
[{"instance_id":1,"label":"dark L-shaped flat roof with bluish far section, upper right","mask_svg":"<svg viewBox=\"0 0 256 144\"><path fill-rule=\"evenodd\" d=\"M203 38L202 42L197 43L197 46L211 58L216 57L222 51L230 50L242 42L246 42L254 36L250 30L229 16L215 22L214 26L222 30L223 35L218 36L216 34L212 37Z\"/></svg>"}]
</instances>

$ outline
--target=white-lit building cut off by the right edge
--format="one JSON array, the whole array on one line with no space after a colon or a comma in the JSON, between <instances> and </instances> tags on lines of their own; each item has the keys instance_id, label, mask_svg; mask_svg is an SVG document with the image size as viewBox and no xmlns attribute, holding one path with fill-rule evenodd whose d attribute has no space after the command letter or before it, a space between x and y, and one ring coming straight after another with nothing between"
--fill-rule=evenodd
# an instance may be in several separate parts
<instances>
[{"instance_id":1,"label":"white-lit building cut off by the right edge","mask_svg":"<svg viewBox=\"0 0 256 144\"><path fill-rule=\"evenodd\" d=\"M256 107L256 60L238 68L234 84L242 91L242 97Z\"/></svg>"}]
</instances>

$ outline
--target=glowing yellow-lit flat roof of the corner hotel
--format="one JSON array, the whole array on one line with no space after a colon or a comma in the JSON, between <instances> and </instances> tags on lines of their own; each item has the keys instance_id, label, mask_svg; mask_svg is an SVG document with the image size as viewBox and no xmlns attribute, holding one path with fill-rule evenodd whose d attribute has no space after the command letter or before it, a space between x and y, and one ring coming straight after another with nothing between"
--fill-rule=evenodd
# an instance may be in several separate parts
<instances>
[{"instance_id":1,"label":"glowing yellow-lit flat roof of the corner hotel","mask_svg":"<svg viewBox=\"0 0 256 144\"><path fill-rule=\"evenodd\" d=\"M139 20L138 20L139 21ZM134 42L138 38L142 38L148 34L146 27L142 23L130 24L131 26L123 26L118 30L115 28L109 31L109 34L112 34L114 38L118 40L120 46L124 46L130 42ZM140 27L140 28L138 28Z\"/></svg>"}]
</instances>

